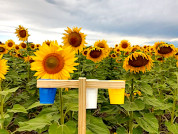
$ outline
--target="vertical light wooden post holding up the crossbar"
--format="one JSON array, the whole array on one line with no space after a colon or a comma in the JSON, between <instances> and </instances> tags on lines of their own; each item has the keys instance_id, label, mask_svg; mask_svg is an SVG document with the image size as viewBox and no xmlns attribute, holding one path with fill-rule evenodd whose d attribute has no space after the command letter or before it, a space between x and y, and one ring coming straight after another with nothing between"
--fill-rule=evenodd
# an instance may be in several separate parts
<instances>
[{"instance_id":1,"label":"vertical light wooden post holding up the crossbar","mask_svg":"<svg viewBox=\"0 0 178 134\"><path fill-rule=\"evenodd\" d=\"M79 78L78 134L86 134L86 78Z\"/></svg>"}]
</instances>

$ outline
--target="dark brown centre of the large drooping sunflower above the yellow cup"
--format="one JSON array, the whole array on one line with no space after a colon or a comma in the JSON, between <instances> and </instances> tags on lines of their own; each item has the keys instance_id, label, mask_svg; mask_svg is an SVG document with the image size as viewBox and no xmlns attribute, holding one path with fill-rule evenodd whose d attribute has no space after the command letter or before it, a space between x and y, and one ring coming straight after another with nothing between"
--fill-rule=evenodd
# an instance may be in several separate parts
<instances>
[{"instance_id":1,"label":"dark brown centre of the large drooping sunflower above the yellow cup","mask_svg":"<svg viewBox=\"0 0 178 134\"><path fill-rule=\"evenodd\" d=\"M145 57L138 56L136 59L132 57L132 60L129 59L129 65L133 67L142 67L148 64L149 60L147 60Z\"/></svg>"}]
</instances>

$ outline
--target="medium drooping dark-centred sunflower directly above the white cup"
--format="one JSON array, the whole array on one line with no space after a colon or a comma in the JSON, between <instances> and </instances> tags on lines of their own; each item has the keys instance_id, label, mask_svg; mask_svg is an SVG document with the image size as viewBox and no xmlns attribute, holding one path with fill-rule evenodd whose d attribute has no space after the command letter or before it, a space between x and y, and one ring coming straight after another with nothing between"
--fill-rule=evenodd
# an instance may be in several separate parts
<instances>
[{"instance_id":1,"label":"medium drooping dark-centred sunflower directly above the white cup","mask_svg":"<svg viewBox=\"0 0 178 134\"><path fill-rule=\"evenodd\" d=\"M93 47L87 52L87 59L93 62L100 62L105 57L105 52L103 49L98 47Z\"/></svg>"}]
</instances>

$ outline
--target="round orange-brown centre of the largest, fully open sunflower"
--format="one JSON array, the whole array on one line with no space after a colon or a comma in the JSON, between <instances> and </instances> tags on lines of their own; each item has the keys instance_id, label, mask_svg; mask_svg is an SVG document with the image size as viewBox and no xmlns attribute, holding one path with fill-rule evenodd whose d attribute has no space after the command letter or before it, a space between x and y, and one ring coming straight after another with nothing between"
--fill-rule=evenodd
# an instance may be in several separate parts
<instances>
[{"instance_id":1,"label":"round orange-brown centre of the largest, fully open sunflower","mask_svg":"<svg viewBox=\"0 0 178 134\"><path fill-rule=\"evenodd\" d=\"M43 60L44 70L49 74L56 74L64 67L64 59L56 53L48 54Z\"/></svg>"}]
</instances>

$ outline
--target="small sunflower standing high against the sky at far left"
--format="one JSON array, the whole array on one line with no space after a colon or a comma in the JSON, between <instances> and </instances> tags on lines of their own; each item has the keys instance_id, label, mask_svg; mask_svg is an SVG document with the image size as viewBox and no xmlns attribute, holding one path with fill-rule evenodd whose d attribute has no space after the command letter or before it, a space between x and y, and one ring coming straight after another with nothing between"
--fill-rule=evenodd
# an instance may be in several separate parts
<instances>
[{"instance_id":1,"label":"small sunflower standing high against the sky at far left","mask_svg":"<svg viewBox=\"0 0 178 134\"><path fill-rule=\"evenodd\" d=\"M19 27L16 29L16 36L19 38L20 41L27 41L28 40L28 36L30 36L28 34L28 29L24 28L23 26L19 25Z\"/></svg>"}]
</instances>

